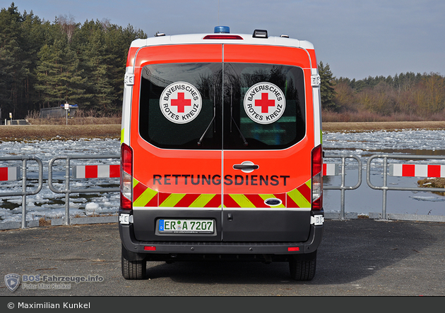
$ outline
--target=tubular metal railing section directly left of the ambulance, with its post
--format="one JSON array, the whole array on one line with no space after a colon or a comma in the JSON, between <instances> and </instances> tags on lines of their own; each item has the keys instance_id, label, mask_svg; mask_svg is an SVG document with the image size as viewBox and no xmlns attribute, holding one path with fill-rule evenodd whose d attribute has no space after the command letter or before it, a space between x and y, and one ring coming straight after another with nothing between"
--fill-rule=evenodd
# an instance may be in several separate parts
<instances>
[{"instance_id":1,"label":"tubular metal railing section directly left of the ambulance, with its post","mask_svg":"<svg viewBox=\"0 0 445 313\"><path fill-rule=\"evenodd\" d=\"M95 156L85 156L85 155L69 155L69 156L56 156L49 161L48 164L48 186L52 192L64 193L65 194L65 225L69 225L69 195L71 193L88 193L88 192L117 192L120 190L117 188L86 188L86 189L71 189L70 188L70 168L71 160L73 159L120 159L119 154L109 154L109 155L95 155ZM53 185L53 171L54 162L57 160L65 160L65 189L60 190Z\"/></svg>"}]
</instances>

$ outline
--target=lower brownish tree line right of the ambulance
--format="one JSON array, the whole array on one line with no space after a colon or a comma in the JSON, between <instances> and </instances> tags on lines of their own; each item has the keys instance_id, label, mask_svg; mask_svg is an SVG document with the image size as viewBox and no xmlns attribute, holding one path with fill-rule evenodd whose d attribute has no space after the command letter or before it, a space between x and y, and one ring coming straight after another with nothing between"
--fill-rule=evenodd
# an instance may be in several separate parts
<instances>
[{"instance_id":1,"label":"lower brownish tree line right of the ambulance","mask_svg":"<svg viewBox=\"0 0 445 313\"><path fill-rule=\"evenodd\" d=\"M350 121L445 120L445 77L439 73L408 72L350 80L335 78L323 62L319 72L326 116Z\"/></svg>"}]
</instances>

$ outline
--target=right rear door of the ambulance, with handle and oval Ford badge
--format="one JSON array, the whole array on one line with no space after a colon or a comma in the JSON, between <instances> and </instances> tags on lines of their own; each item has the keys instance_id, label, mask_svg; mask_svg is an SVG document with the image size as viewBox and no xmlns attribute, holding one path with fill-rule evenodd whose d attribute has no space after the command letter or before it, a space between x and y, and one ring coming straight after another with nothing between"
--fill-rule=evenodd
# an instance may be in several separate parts
<instances>
[{"instance_id":1,"label":"right rear door of the ambulance, with handle and oval Ford badge","mask_svg":"<svg viewBox=\"0 0 445 313\"><path fill-rule=\"evenodd\" d=\"M225 44L224 241L307 239L314 147L310 77L304 49Z\"/></svg>"}]
</instances>

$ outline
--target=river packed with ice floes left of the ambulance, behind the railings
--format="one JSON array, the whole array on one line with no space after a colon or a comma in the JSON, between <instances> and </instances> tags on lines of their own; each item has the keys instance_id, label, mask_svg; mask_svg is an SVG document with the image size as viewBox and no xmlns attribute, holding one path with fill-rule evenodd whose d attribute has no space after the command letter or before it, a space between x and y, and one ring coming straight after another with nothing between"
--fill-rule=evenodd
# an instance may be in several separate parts
<instances>
[{"instance_id":1,"label":"river packed with ice floes left of the ambulance, behind the railings","mask_svg":"<svg viewBox=\"0 0 445 313\"><path fill-rule=\"evenodd\" d=\"M47 184L48 163L54 156L66 155L118 155L120 141L113 139L93 140L49 140L31 142L1 142L0 156L37 156L43 163L43 188L37 195L26 197L27 220L64 218L65 195L54 193L49 190ZM22 161L0 161L0 167L19 166ZM65 189L65 163L64 159L57 160L53 166L53 185L59 190ZM72 159L71 167L74 165L89 164L119 164L119 159ZM27 169L28 186L27 191L37 188L38 165L36 161L28 161ZM103 186L102 186L103 185ZM119 186L119 178L73 180L70 189L86 188L109 188ZM0 192L22 190L21 180L0 183ZM0 197L0 221L18 221L22 219L22 197ZM91 214L115 214L119 209L119 193L71 193L69 201L70 216L89 216Z\"/></svg>"}]
</instances>

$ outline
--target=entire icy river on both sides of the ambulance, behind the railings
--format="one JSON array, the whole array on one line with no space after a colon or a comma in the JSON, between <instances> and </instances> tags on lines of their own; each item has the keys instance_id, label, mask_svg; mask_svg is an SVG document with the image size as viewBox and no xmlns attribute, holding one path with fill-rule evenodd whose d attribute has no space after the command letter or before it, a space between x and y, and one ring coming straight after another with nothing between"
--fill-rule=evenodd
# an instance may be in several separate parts
<instances>
[{"instance_id":1,"label":"entire icy river on both sides of the ambulance, behind the railings","mask_svg":"<svg viewBox=\"0 0 445 313\"><path fill-rule=\"evenodd\" d=\"M400 130L400 131L375 131L362 133L324 133L323 145L326 154L354 154L362 159L362 185L357 190L345 191L345 211L368 214L369 212L381 212L382 192L372 190L366 182L366 163L372 154L397 153L397 154L421 154L440 155L445 159L445 130ZM82 154L88 156L119 154L119 140L50 140L31 142L0 142L0 156L35 155L42 159L44 164L44 184L42 191L37 195L28 195L27 219L63 218L65 214L64 194L56 194L47 186L47 166L54 156L69 154ZM326 163L339 163L340 159L325 159ZM118 164L118 159L90 159L72 160L74 164ZM434 164L445 164L442 160L435 160ZM375 168L371 171L371 180L374 185L382 182L382 160L376 159ZM0 161L0 167L21 166L21 161ZM28 191L37 185L37 163L28 161ZM65 166L64 160L54 163L53 185L64 190ZM346 185L357 183L357 163L353 159L347 160ZM389 185L403 185L417 187L418 178L388 178ZM340 176L325 176L326 185L340 185ZM109 180L71 180L71 189L85 189L93 186L109 185L118 186L119 179ZM0 183L0 192L20 191L21 181L9 181ZM388 191L388 213L408 214L433 214L445 215L445 197L435 195L432 192L407 192ZM21 221L22 197L0 197L0 221ZM69 201L71 216L89 216L91 214L114 214L119 209L119 192L107 192L100 194L73 193ZM340 210L340 191L325 190L325 211Z\"/></svg>"}]
</instances>

